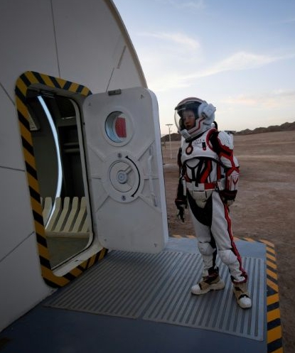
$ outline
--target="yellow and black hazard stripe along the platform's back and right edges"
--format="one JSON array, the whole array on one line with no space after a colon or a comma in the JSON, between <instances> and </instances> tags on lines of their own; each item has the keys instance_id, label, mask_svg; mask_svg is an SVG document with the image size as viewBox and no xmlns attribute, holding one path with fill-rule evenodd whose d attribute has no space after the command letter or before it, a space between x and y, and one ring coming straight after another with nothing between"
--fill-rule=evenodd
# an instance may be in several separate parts
<instances>
[{"instance_id":1,"label":"yellow and black hazard stripe along the platform's back and right edges","mask_svg":"<svg viewBox=\"0 0 295 353\"><path fill-rule=\"evenodd\" d=\"M194 235L172 235L173 238L195 238ZM235 240L255 241L250 238ZM281 314L279 311L279 285L274 244L267 240L259 240L266 246L267 263L267 353L283 353Z\"/></svg>"}]
</instances>

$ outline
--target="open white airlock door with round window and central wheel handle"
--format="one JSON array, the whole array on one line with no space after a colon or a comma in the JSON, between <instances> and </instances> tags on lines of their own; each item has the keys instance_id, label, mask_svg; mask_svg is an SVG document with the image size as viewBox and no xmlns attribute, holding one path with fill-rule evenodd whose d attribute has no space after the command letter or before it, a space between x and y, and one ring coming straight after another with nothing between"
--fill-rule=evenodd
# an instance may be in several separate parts
<instances>
[{"instance_id":1,"label":"open white airlock door with round window and central wheel handle","mask_svg":"<svg viewBox=\"0 0 295 353\"><path fill-rule=\"evenodd\" d=\"M136 87L83 104L92 222L107 249L158 252L168 241L156 96Z\"/></svg>"}]
</instances>

